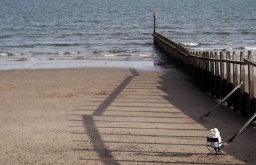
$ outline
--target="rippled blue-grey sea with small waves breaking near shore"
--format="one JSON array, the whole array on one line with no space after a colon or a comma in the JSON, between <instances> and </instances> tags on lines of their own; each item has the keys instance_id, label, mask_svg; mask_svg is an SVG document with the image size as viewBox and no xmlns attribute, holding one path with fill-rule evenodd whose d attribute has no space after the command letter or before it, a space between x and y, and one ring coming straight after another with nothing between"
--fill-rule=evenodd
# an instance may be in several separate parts
<instances>
[{"instance_id":1,"label":"rippled blue-grey sea with small waves breaking near shore","mask_svg":"<svg viewBox=\"0 0 256 165\"><path fill-rule=\"evenodd\" d=\"M255 9L254 0L0 0L0 67L154 60L163 55L154 11L156 31L191 50L256 51Z\"/></svg>"}]
</instances>

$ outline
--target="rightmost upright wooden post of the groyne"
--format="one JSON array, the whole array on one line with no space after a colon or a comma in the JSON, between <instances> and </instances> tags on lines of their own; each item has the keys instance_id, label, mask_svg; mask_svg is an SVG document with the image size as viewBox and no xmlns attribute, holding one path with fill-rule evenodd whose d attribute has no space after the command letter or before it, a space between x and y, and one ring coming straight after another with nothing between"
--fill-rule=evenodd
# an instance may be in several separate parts
<instances>
[{"instance_id":1,"label":"rightmost upright wooden post of the groyne","mask_svg":"<svg viewBox=\"0 0 256 165\"><path fill-rule=\"evenodd\" d=\"M252 51L248 51L248 59L253 61ZM248 102L248 111L246 112L248 115L252 115L254 113L254 81L253 81L253 66L248 65L248 81L249 81L249 102Z\"/></svg>"}]
</instances>

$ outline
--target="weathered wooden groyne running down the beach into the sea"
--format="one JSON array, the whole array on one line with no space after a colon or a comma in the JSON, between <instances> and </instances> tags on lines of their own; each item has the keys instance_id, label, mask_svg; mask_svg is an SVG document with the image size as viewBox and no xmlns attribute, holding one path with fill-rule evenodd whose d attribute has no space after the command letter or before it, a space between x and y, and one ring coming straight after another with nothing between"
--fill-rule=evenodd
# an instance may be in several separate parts
<instances>
[{"instance_id":1,"label":"weathered wooden groyne running down the beach into the sea","mask_svg":"<svg viewBox=\"0 0 256 165\"><path fill-rule=\"evenodd\" d=\"M189 74L191 81L212 97L224 98L243 81L241 88L226 100L227 106L233 107L242 116L255 113L253 67L256 63L253 62L252 51L248 51L248 57L244 52L232 52L231 56L230 52L189 51L156 31L153 36L154 44L170 58L173 65Z\"/></svg>"}]
</instances>

